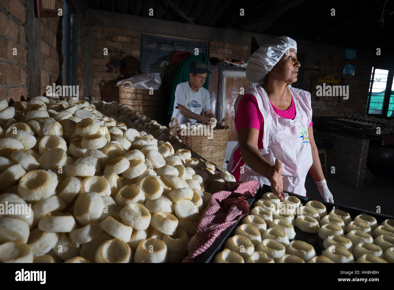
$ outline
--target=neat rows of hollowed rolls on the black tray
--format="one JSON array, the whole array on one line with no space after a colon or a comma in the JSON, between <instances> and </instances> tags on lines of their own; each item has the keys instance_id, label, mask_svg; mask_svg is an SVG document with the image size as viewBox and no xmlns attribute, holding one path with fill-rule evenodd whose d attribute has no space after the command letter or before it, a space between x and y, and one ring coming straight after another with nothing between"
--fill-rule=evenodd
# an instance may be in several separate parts
<instances>
[{"instance_id":1,"label":"neat rows of hollowed rolls on the black tray","mask_svg":"<svg viewBox=\"0 0 394 290\"><path fill-rule=\"evenodd\" d=\"M295 239L294 226L323 239L322 255ZM302 206L295 196L280 201L264 193L224 248L215 263L393 263L394 219L378 225L374 217L361 214L352 220L342 210L327 214L318 201Z\"/></svg>"}]
</instances>

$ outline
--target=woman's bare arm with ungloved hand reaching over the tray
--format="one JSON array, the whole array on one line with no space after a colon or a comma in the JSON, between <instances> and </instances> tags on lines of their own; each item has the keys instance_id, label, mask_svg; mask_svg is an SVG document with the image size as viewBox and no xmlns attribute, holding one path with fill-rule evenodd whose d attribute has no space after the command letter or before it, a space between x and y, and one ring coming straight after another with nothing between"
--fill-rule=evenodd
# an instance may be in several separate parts
<instances>
[{"instance_id":1,"label":"woman's bare arm with ungloved hand reaching over the tray","mask_svg":"<svg viewBox=\"0 0 394 290\"><path fill-rule=\"evenodd\" d=\"M256 173L264 176L271 182L272 192L283 200L282 163L276 159L275 164L269 163L258 151L257 141L259 130L256 128L242 128L238 130L238 140L243 161ZM241 168L235 168L241 170Z\"/></svg>"}]
</instances>

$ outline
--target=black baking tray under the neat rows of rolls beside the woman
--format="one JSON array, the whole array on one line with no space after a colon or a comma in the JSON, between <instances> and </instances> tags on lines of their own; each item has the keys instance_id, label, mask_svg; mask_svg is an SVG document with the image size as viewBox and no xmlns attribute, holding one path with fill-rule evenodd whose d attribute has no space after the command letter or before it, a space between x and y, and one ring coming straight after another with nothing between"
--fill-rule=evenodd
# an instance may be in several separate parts
<instances>
[{"instance_id":1,"label":"black baking tray under the neat rows of rolls beside the woman","mask_svg":"<svg viewBox=\"0 0 394 290\"><path fill-rule=\"evenodd\" d=\"M251 209L253 204L257 200L259 200L261 198L261 196L266 192L271 192L271 187L269 185L264 184L262 187L259 187L256 195L253 198L247 199L247 202L249 203L249 209ZM305 205L309 200L315 200L312 198L307 198L306 196L301 196L301 195L297 195L295 193L291 193L289 191L284 190L283 192L288 193L289 195L292 195L292 196L296 196L297 198L299 198L299 200L301 201L301 203L303 205ZM316 200L316 201L322 202L320 200ZM331 204L329 202L322 202L322 204L324 204L325 207L327 208L327 214L331 210L333 210L333 208L335 207L335 209L348 212L352 219L354 219L357 215L362 214L362 213L365 213L365 214L375 217L375 219L377 220L377 222L379 224L382 221L384 221L385 219L394 219L394 216L391 216L391 215L383 215L383 214L375 213L372 211L366 211L366 210L361 210L358 208L353 208L351 206L344 206L342 204ZM212 262L216 256L216 254L223 251L224 243L227 241L228 238L230 238L234 235L234 230L236 229L237 226L240 225L241 221L242 221L242 219L238 220L234 225L229 226L227 229L225 229L223 232L221 232L221 234L219 236L217 236L214 243L212 243L212 245L203 254L196 257L196 259L198 259L197 263ZM290 239L290 241L293 241L295 239L305 241L314 247L314 250L316 252L316 256L319 256L322 254L322 251L324 250L323 239L321 239L318 236L318 234L303 232L295 226L294 226L294 231L296 232L296 237L294 239Z\"/></svg>"}]
</instances>

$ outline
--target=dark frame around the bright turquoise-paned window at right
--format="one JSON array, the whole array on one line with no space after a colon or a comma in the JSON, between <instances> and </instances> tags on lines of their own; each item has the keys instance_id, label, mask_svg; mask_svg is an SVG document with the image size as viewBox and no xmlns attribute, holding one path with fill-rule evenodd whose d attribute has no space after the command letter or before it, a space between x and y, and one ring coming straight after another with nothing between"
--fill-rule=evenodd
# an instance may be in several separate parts
<instances>
[{"instance_id":1,"label":"dark frame around the bright turquoise-paned window at right","mask_svg":"<svg viewBox=\"0 0 394 290\"><path fill-rule=\"evenodd\" d=\"M370 102L371 102L371 96L372 96L372 86L374 85L374 78L375 78L375 70L376 69L385 69L388 70L387 74L387 82L386 82L386 88L385 88L385 95L383 99L383 107L382 107L382 113L381 114L370 114L369 108L370 108ZM388 105L390 103L390 96L391 96L391 88L393 85L393 78L394 78L394 68L387 66L387 65L374 65L372 66L372 75L370 79L370 88L368 92L368 101L367 101L367 107L366 107L366 115L367 116L374 116L377 118L393 118L391 116L387 116L388 112Z\"/></svg>"}]
</instances>

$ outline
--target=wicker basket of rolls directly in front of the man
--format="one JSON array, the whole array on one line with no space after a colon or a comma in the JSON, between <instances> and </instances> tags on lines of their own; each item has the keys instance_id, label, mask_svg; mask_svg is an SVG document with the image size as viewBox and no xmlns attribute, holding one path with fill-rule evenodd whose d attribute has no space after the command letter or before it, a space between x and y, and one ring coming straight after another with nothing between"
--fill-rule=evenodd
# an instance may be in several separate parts
<instances>
[{"instance_id":1,"label":"wicker basket of rolls directly in front of the man","mask_svg":"<svg viewBox=\"0 0 394 290\"><path fill-rule=\"evenodd\" d=\"M179 126L177 118L171 119L170 129L174 135L178 135L186 146L207 161L215 163L219 170L223 170L227 141L230 136L229 120L224 119L224 122L225 126L222 129L214 129L212 139L208 139L207 136L182 135L182 129Z\"/></svg>"}]
</instances>

